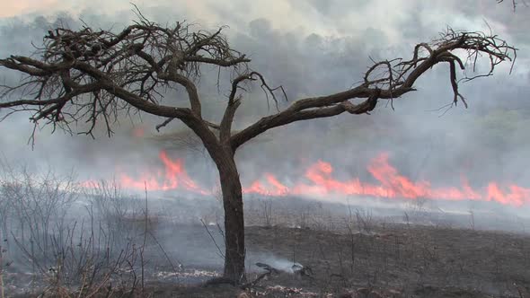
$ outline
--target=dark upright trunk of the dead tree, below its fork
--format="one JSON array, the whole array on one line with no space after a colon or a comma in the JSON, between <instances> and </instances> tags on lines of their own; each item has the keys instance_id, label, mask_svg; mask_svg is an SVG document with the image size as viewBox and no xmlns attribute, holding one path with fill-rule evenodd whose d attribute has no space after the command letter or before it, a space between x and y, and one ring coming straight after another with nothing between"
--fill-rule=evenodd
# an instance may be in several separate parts
<instances>
[{"instance_id":1,"label":"dark upright trunk of the dead tree, below its fork","mask_svg":"<svg viewBox=\"0 0 530 298\"><path fill-rule=\"evenodd\" d=\"M244 217L243 191L234 154L216 158L219 171L223 206L225 208L225 271L224 277L237 284L245 282L244 272Z\"/></svg>"}]
</instances>

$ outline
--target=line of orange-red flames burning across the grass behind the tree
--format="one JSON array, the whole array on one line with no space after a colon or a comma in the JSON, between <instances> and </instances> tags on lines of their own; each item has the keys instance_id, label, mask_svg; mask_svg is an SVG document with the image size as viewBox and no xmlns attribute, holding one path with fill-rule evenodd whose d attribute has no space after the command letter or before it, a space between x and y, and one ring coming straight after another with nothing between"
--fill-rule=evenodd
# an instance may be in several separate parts
<instances>
[{"instance_id":1,"label":"line of orange-red flames burning across the grass behind the tree","mask_svg":"<svg viewBox=\"0 0 530 298\"><path fill-rule=\"evenodd\" d=\"M181 159L171 159L165 151L159 153L163 164L163 171L146 171L137 177L126 173L119 175L119 182L123 188L149 190L185 189L188 191L210 195L212 192L201 188L197 182L190 179ZM263 196L285 197L287 195L324 197L367 196L404 199L444 199L444 200L481 200L493 201L503 205L523 206L530 203L530 188L522 188L515 184L501 187L497 182L490 182L481 191L473 189L469 181L461 176L460 187L435 188L427 180L412 181L400 174L389 162L388 153L380 153L367 166L367 171L378 182L367 183L354 178L351 180L336 180L332 177L333 167L329 162L314 162L309 166L303 179L287 186L272 173L264 173L259 180L254 180L250 186L243 188L245 194L259 194ZM91 183L85 181L84 187Z\"/></svg>"}]
</instances>

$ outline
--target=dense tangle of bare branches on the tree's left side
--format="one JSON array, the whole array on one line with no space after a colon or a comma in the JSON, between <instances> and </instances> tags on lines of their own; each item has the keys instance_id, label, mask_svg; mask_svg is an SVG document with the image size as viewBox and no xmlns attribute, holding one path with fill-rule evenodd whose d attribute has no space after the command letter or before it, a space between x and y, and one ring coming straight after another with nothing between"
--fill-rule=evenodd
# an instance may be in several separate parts
<instances>
[{"instance_id":1,"label":"dense tangle of bare branches on the tree's left side","mask_svg":"<svg viewBox=\"0 0 530 298\"><path fill-rule=\"evenodd\" d=\"M31 92L34 101L6 101L0 107L26 110L37 106L32 119L36 121L53 115L49 123L54 126L56 122L65 121L59 117L62 110L73 109L74 113L65 114L69 117L66 123L84 118L85 122L91 123L86 132L89 134L96 118L103 118L111 132L110 124L116 122L119 111L129 114L131 108L165 118L201 119L199 92L194 83L200 75L199 66L236 67L250 61L230 48L221 34L223 28L211 33L191 31L185 22L164 28L150 22L141 13L138 17L137 23L118 34L91 28L72 31L59 27L45 36L44 46L40 49L41 59L20 56L0 59L0 66L27 75L26 81L19 85L4 86L3 98L9 98L15 92L25 96L25 92L38 90ZM159 104L163 97L160 90L172 83L186 89L190 109ZM82 88L89 84L96 84L97 88ZM20 94L16 93L16 96L20 97ZM120 104L117 100L127 104ZM204 122L206 127L220 128ZM167 125L169 121L164 123Z\"/></svg>"}]
</instances>

